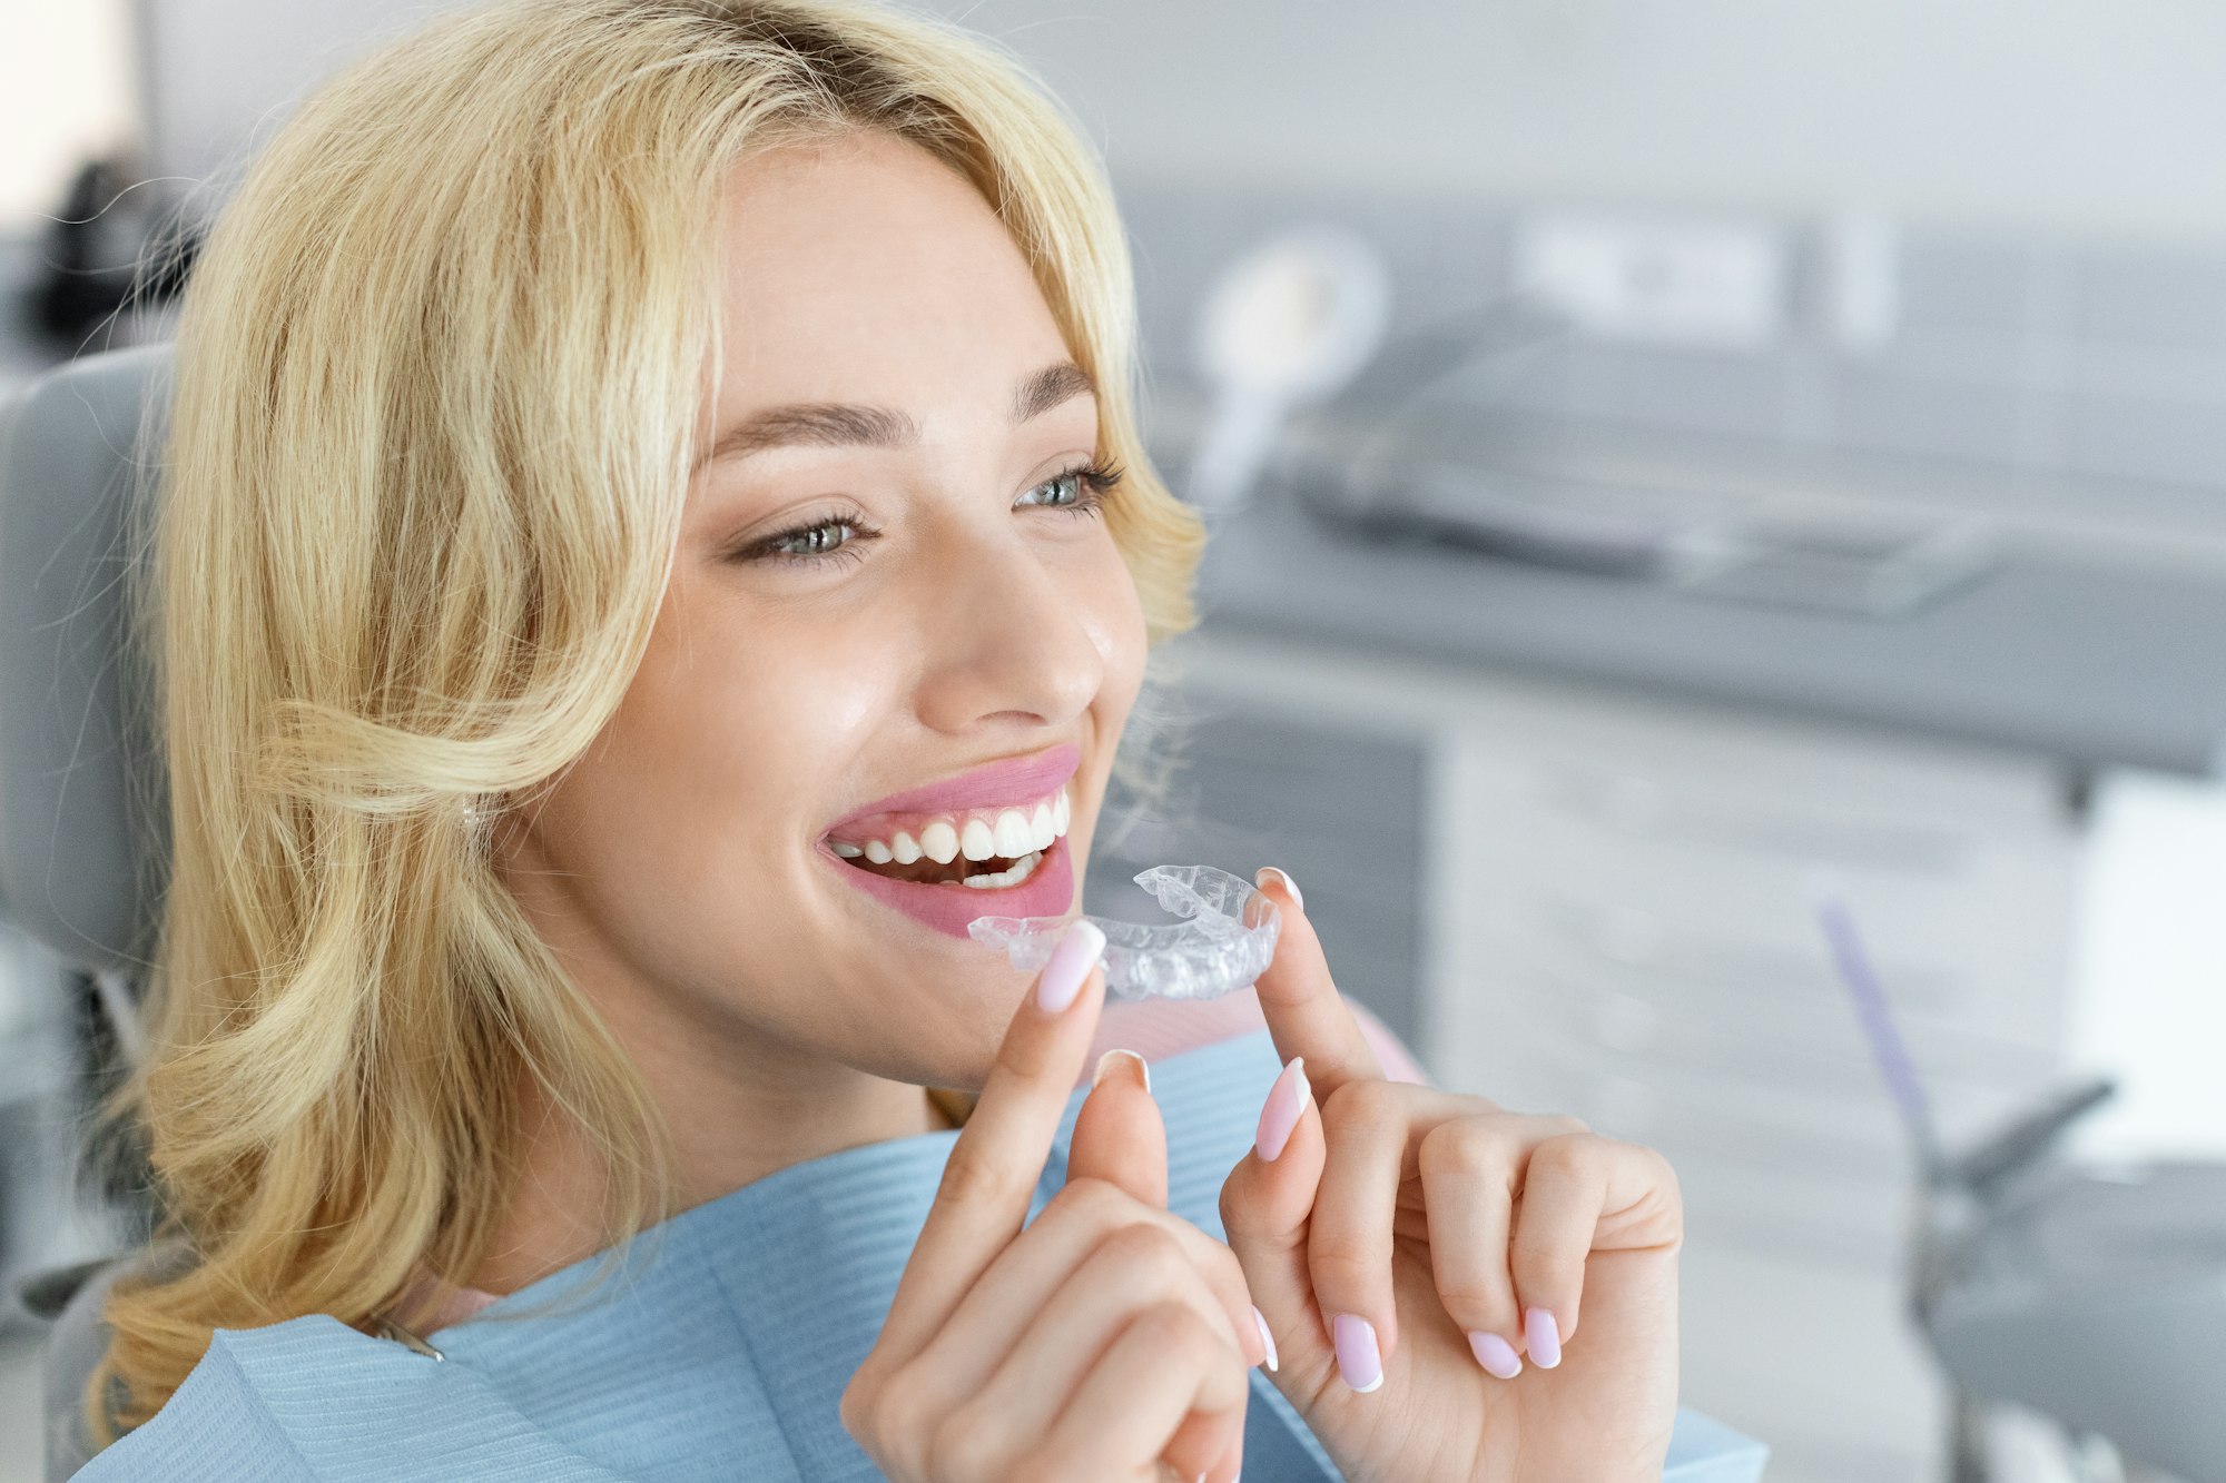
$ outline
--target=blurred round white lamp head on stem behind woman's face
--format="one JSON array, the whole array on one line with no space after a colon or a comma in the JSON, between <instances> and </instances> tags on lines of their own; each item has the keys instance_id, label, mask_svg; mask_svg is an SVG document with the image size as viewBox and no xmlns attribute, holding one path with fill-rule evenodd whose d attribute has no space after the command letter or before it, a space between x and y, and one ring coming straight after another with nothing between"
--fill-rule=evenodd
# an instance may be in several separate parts
<instances>
[{"instance_id":1,"label":"blurred round white lamp head on stem behind woman's face","mask_svg":"<svg viewBox=\"0 0 2226 1483\"><path fill-rule=\"evenodd\" d=\"M1242 508L1284 419L1345 390L1389 321L1391 272L1351 232L1300 227L1231 263L1198 323L1213 405L1191 459L1191 503Z\"/></svg>"}]
</instances>

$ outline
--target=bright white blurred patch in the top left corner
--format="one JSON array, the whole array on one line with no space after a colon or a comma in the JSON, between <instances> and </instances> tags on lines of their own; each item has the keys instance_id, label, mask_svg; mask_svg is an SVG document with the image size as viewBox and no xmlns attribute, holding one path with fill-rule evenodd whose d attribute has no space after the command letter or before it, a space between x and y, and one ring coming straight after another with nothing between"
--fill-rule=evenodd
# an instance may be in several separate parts
<instances>
[{"instance_id":1,"label":"bright white blurred patch in the top left corner","mask_svg":"<svg viewBox=\"0 0 2226 1483\"><path fill-rule=\"evenodd\" d=\"M136 127L125 0L0 2L0 232L53 212L76 167Z\"/></svg>"}]
</instances>

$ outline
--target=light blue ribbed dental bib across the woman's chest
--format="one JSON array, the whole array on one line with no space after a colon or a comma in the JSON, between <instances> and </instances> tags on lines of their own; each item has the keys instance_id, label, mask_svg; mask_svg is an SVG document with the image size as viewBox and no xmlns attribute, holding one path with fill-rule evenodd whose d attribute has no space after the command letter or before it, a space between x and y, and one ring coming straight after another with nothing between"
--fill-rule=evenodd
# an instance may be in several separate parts
<instances>
[{"instance_id":1,"label":"light blue ribbed dental bib across the woman's chest","mask_svg":"<svg viewBox=\"0 0 2226 1483\"><path fill-rule=\"evenodd\" d=\"M1169 1209L1224 1236L1220 1187L1282 1069L1267 1031L1153 1062ZM1068 1100L1033 1211L1066 1182ZM839 1401L873 1347L957 1131L779 1169L630 1247L430 1334L443 1361L327 1316L218 1329L154 1421L76 1476L227 1483L866 1483ZM565 1300L570 1298L570 1303ZM1244 1476L1340 1474L1253 1372ZM1667 1483L1754 1483L1765 1447L1678 1412Z\"/></svg>"}]
</instances>

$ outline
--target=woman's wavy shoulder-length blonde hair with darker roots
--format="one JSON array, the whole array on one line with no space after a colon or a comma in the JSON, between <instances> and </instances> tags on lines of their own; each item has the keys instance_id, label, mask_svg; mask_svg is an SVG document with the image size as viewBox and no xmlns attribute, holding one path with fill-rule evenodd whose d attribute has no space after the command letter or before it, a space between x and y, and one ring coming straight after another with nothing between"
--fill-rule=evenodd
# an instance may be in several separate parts
<instances>
[{"instance_id":1,"label":"woman's wavy shoulder-length blonde hair with darker roots","mask_svg":"<svg viewBox=\"0 0 2226 1483\"><path fill-rule=\"evenodd\" d=\"M534 1078L670 1214L670 1136L501 886L474 804L588 750L663 597L719 196L746 154L881 129L962 171L1097 383L1153 644L1204 532L1135 430L1097 156L1008 53L824 0L514 0L354 65L269 140L185 296L138 595L171 862L145 1133L180 1265L118 1283L107 1443L214 1327L367 1325L467 1278ZM430 1307L430 1303L427 1303Z\"/></svg>"}]
</instances>

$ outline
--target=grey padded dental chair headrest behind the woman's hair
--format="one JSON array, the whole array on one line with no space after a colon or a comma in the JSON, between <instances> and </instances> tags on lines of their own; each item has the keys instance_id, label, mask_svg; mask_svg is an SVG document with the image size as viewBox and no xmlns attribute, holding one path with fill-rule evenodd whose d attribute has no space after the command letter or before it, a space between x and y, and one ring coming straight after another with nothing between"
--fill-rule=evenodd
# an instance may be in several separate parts
<instances>
[{"instance_id":1,"label":"grey padded dental chair headrest behind the woman's hair","mask_svg":"<svg viewBox=\"0 0 2226 1483\"><path fill-rule=\"evenodd\" d=\"M169 345L85 356L0 403L0 913L138 980L169 860L125 572L169 412Z\"/></svg>"}]
</instances>

